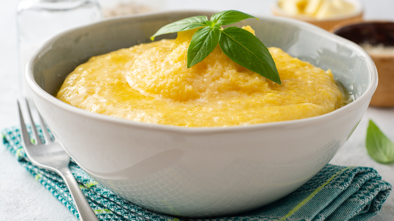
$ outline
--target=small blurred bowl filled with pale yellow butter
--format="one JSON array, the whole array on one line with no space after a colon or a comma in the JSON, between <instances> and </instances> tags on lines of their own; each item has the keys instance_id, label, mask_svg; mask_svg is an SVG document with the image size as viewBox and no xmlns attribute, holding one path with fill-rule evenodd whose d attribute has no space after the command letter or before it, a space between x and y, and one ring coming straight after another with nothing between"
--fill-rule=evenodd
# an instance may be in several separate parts
<instances>
[{"instance_id":1,"label":"small blurred bowl filled with pale yellow butter","mask_svg":"<svg viewBox=\"0 0 394 221\"><path fill-rule=\"evenodd\" d=\"M363 7L357 0L277 0L272 14L309 22L325 30L343 22L361 21Z\"/></svg>"}]
</instances>

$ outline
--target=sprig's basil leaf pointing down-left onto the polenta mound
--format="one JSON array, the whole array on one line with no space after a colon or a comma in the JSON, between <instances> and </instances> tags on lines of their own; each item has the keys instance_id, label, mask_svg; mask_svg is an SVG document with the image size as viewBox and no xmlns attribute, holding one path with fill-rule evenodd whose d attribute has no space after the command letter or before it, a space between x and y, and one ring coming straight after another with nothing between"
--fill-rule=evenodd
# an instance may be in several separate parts
<instances>
[{"instance_id":1,"label":"sprig's basil leaf pointing down-left onto the polenta mound","mask_svg":"<svg viewBox=\"0 0 394 221\"><path fill-rule=\"evenodd\" d=\"M220 38L220 30L212 27L203 27L191 37L187 49L187 68L203 61L210 54Z\"/></svg>"}]
</instances>

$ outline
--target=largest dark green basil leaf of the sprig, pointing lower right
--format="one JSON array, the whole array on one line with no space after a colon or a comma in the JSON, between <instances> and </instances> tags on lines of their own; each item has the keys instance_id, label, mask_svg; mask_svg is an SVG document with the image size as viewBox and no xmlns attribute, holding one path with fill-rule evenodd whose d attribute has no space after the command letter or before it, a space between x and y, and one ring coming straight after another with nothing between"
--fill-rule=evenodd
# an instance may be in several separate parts
<instances>
[{"instance_id":1,"label":"largest dark green basil leaf of the sprig, pointing lower right","mask_svg":"<svg viewBox=\"0 0 394 221\"><path fill-rule=\"evenodd\" d=\"M238 65L281 84L278 70L268 48L251 32L237 27L221 31L222 51Z\"/></svg>"}]
</instances>

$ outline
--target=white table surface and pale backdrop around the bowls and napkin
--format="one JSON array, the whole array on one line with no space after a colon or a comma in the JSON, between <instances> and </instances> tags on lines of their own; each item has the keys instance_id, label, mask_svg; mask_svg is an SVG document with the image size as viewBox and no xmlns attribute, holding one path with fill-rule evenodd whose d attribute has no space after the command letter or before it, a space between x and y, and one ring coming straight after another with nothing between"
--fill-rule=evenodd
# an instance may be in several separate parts
<instances>
[{"instance_id":1,"label":"white table surface and pale backdrop around the bowls and napkin","mask_svg":"<svg viewBox=\"0 0 394 221\"><path fill-rule=\"evenodd\" d=\"M159 0L160 1L160 0ZM99 1L103 8L114 2ZM122 2L127 2L124 0ZM143 2L140 0L139 2ZM145 1L147 3L149 1ZM270 1L195 1L166 0L165 10L229 10L236 9L255 16L270 15ZM225 4L222 4L225 2ZM364 0L365 19L394 21L394 1ZM18 1L2 1L0 7L0 130L18 125L16 99L19 96L17 33L15 11ZM163 2L162 2L163 3ZM241 5L242 3L243 5ZM205 4L208 6L205 6ZM394 72L394 66L393 66ZM393 82L394 84L394 82ZM348 142L338 151L330 163L372 167L383 179L394 184L394 164L373 161L365 149L365 134L369 119L394 140L394 108L369 107L363 120ZM39 184L0 144L0 220L77 220L76 217L49 191ZM394 193L391 193L380 212L371 220L394 220Z\"/></svg>"}]
</instances>

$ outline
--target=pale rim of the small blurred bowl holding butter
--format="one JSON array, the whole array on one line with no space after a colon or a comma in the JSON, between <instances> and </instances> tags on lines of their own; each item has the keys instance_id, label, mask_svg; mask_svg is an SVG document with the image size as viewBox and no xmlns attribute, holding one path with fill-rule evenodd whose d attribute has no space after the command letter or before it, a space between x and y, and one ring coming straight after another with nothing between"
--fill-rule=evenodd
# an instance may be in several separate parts
<instances>
[{"instance_id":1,"label":"pale rim of the small blurred bowl holding butter","mask_svg":"<svg viewBox=\"0 0 394 221\"><path fill-rule=\"evenodd\" d=\"M359 1L359 0L344 0L346 2L352 3L355 6L355 11L348 14L348 15L341 15L333 18L326 18L326 19L314 19L310 16L307 15L291 15L284 10L282 10L278 6L278 0L274 1L271 4L271 11L276 13L279 16L286 16L290 18L295 18L295 19L300 19L303 21L308 21L308 22L328 22L328 21L338 21L338 20L343 20L343 19L351 19L351 18L356 18L360 15L363 15L364 13L364 5Z\"/></svg>"}]
</instances>

